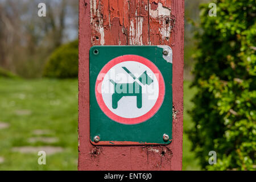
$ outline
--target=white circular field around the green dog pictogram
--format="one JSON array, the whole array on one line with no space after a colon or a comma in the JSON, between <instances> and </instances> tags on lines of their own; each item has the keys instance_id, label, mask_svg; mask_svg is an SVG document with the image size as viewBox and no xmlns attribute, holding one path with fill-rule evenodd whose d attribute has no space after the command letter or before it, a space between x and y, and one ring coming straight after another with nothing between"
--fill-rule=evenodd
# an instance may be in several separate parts
<instances>
[{"instance_id":1,"label":"white circular field around the green dog pictogram","mask_svg":"<svg viewBox=\"0 0 256 182\"><path fill-rule=\"evenodd\" d=\"M124 69L125 67L126 69ZM129 74L128 72L132 73ZM146 74L149 76L149 79L152 79L152 82L142 84L139 81L139 77L146 71ZM137 97L123 96L123 93L119 94L115 92L115 86L110 80L113 80L117 84L125 84L128 86L137 82L141 85L142 88L142 107L138 108L137 105ZM146 65L139 63L137 61L124 61L122 63L114 65L109 71L104 75L104 79L101 83L101 93L102 98L105 102L105 105L112 111L114 114L118 115L119 117L123 118L137 118L152 109L155 105L156 100L158 100L159 96L159 82L158 82L158 74L151 71ZM123 87L123 90L125 87ZM121 90L121 91L123 91ZM114 97L121 97L118 101L118 106L116 109L113 108L112 105L112 96Z\"/></svg>"}]
</instances>

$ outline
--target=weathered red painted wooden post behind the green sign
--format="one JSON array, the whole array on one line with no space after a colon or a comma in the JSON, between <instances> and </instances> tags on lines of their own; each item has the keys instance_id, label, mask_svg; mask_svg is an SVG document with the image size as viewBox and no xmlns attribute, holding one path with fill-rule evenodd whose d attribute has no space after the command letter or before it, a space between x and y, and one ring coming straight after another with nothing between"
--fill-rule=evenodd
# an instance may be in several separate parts
<instances>
[{"instance_id":1,"label":"weathered red painted wooden post behind the green sign","mask_svg":"<svg viewBox=\"0 0 256 182\"><path fill-rule=\"evenodd\" d=\"M80 0L79 170L181 170L183 0ZM167 146L93 146L89 140L89 49L94 45L168 45L173 50L173 128Z\"/></svg>"}]
</instances>

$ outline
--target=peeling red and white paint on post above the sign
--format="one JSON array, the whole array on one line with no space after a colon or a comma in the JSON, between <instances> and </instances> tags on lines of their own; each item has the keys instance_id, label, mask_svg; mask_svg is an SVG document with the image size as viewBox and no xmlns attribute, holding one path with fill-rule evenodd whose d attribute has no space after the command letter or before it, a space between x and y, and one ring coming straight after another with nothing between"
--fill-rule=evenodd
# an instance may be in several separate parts
<instances>
[{"instance_id":1,"label":"peeling red and white paint on post above the sign","mask_svg":"<svg viewBox=\"0 0 256 182\"><path fill-rule=\"evenodd\" d=\"M171 43L174 20L166 1L90 0L90 13L93 45Z\"/></svg>"}]
</instances>

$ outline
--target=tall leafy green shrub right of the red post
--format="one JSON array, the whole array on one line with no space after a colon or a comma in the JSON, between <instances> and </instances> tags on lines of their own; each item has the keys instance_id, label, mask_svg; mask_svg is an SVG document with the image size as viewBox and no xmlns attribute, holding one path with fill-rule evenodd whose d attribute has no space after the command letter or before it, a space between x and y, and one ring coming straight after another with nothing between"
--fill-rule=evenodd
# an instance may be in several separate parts
<instances>
[{"instance_id":1,"label":"tall leafy green shrub right of the red post","mask_svg":"<svg viewBox=\"0 0 256 182\"><path fill-rule=\"evenodd\" d=\"M193 150L205 169L255 169L256 6L255 0L217 0L217 16L201 6L202 32L195 54L198 88L190 111ZM208 163L209 151L217 164Z\"/></svg>"}]
</instances>

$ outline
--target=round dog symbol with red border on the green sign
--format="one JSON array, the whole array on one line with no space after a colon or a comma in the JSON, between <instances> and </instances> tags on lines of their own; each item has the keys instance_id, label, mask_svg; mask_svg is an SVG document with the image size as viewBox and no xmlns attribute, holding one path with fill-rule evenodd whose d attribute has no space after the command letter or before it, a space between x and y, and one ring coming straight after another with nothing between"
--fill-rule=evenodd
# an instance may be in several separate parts
<instances>
[{"instance_id":1,"label":"round dog symbol with red border on the green sign","mask_svg":"<svg viewBox=\"0 0 256 182\"><path fill-rule=\"evenodd\" d=\"M159 110L165 85L162 74L150 60L125 55L102 68L95 92L98 105L110 119L134 125L147 121Z\"/></svg>"}]
</instances>

